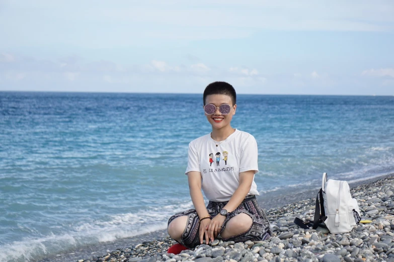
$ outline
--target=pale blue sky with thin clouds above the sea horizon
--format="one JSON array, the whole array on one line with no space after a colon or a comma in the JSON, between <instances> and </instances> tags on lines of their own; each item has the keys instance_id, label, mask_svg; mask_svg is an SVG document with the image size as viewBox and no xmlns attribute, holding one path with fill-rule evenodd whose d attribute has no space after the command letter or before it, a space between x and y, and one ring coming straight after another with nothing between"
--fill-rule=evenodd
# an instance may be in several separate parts
<instances>
[{"instance_id":1,"label":"pale blue sky with thin clouds above the sea horizon","mask_svg":"<svg viewBox=\"0 0 394 262\"><path fill-rule=\"evenodd\" d=\"M394 1L0 0L0 91L394 95Z\"/></svg>"}]
</instances>

